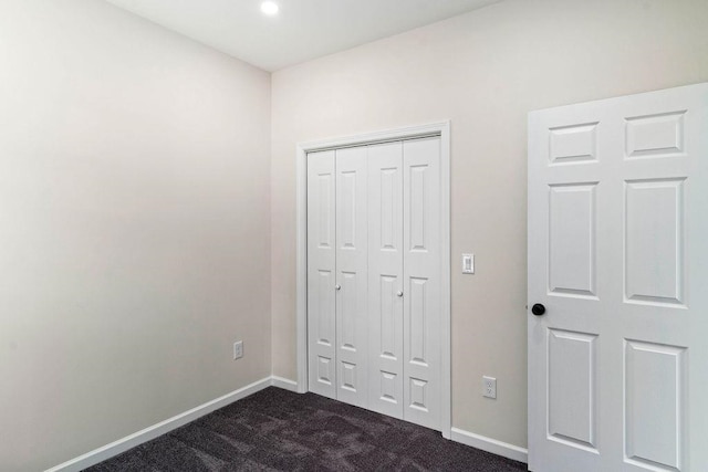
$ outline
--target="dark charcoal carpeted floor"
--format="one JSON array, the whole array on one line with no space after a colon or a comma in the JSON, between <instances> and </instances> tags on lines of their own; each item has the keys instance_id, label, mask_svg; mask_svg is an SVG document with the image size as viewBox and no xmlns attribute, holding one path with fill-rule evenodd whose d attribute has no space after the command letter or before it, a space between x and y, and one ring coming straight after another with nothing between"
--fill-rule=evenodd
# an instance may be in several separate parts
<instances>
[{"instance_id":1,"label":"dark charcoal carpeted floor","mask_svg":"<svg viewBox=\"0 0 708 472\"><path fill-rule=\"evenodd\" d=\"M87 469L167 471L525 471L439 432L314 394L270 387Z\"/></svg>"}]
</instances>

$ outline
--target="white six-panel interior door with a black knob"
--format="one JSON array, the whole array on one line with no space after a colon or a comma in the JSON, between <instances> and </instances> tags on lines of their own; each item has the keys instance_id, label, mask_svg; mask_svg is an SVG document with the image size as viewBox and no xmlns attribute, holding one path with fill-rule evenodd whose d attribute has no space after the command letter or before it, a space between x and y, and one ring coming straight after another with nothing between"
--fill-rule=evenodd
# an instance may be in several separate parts
<instances>
[{"instance_id":1,"label":"white six-panel interior door with a black knob","mask_svg":"<svg viewBox=\"0 0 708 472\"><path fill-rule=\"evenodd\" d=\"M530 470L708 468L707 107L529 115Z\"/></svg>"}]
</instances>

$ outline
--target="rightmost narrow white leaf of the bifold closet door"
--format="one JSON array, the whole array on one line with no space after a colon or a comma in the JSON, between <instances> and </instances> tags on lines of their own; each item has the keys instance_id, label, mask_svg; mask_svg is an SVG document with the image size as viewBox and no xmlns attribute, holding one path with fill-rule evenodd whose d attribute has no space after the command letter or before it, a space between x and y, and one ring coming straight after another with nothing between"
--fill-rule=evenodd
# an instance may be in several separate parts
<instances>
[{"instance_id":1,"label":"rightmost narrow white leaf of the bifold closet door","mask_svg":"<svg viewBox=\"0 0 708 472\"><path fill-rule=\"evenodd\" d=\"M440 138L404 141L404 418L440 429Z\"/></svg>"}]
</instances>

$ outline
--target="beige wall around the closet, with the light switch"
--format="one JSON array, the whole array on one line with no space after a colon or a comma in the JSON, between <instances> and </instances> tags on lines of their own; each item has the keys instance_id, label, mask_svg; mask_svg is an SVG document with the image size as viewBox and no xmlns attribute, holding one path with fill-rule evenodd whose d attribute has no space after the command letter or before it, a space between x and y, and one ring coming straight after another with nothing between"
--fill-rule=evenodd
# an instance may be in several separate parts
<instances>
[{"instance_id":1,"label":"beige wall around the closet, with the light switch","mask_svg":"<svg viewBox=\"0 0 708 472\"><path fill-rule=\"evenodd\" d=\"M273 373L295 378L295 144L452 122L452 424L527 444L527 113L708 80L705 0L507 0L273 74ZM481 376L498 399L481 397Z\"/></svg>"}]
</instances>

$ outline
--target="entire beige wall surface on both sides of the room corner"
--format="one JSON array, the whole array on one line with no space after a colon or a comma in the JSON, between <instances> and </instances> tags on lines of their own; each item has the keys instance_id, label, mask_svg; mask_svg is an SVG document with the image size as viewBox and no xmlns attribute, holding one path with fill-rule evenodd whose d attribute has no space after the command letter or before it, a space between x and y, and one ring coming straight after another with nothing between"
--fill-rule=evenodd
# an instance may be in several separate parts
<instances>
[{"instance_id":1,"label":"entire beige wall surface on both sides of the room corner","mask_svg":"<svg viewBox=\"0 0 708 472\"><path fill-rule=\"evenodd\" d=\"M271 335L294 379L295 144L446 118L454 268L478 264L452 422L525 445L527 112L707 81L705 24L705 0L506 0L280 71L271 106L268 73L105 2L0 2L0 469L261 379Z\"/></svg>"}]
</instances>

